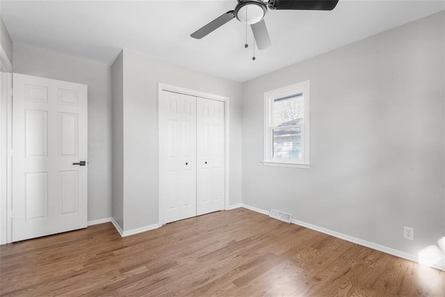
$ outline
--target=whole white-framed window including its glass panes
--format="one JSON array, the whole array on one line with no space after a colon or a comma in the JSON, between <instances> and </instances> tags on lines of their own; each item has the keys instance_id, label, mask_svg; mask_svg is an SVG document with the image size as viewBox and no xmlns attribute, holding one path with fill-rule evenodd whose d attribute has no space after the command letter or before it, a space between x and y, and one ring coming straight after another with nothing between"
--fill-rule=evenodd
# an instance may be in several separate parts
<instances>
[{"instance_id":1,"label":"whole white-framed window including its glass panes","mask_svg":"<svg viewBox=\"0 0 445 297\"><path fill-rule=\"evenodd\" d=\"M309 81L264 93L263 163L309 168Z\"/></svg>"}]
</instances>

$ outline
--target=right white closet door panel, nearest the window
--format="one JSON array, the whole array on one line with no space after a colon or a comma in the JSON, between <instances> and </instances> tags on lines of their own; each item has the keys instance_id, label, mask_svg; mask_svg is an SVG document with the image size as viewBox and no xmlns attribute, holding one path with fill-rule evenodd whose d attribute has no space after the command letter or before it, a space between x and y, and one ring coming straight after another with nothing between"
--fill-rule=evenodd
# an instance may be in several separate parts
<instances>
[{"instance_id":1,"label":"right white closet door panel, nearest the window","mask_svg":"<svg viewBox=\"0 0 445 297\"><path fill-rule=\"evenodd\" d=\"M224 209L224 102L197 98L197 215Z\"/></svg>"}]
</instances>

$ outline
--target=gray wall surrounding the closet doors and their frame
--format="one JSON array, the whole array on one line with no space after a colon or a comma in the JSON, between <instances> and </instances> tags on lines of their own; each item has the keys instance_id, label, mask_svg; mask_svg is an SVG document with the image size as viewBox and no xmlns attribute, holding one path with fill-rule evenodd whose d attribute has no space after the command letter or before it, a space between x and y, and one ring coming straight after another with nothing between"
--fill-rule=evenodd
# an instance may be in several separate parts
<instances>
[{"instance_id":1,"label":"gray wall surrounding the closet doors and their frame","mask_svg":"<svg viewBox=\"0 0 445 297\"><path fill-rule=\"evenodd\" d=\"M230 98L229 203L241 203L241 83L124 49L124 231L159 223L158 83Z\"/></svg>"}]
</instances>

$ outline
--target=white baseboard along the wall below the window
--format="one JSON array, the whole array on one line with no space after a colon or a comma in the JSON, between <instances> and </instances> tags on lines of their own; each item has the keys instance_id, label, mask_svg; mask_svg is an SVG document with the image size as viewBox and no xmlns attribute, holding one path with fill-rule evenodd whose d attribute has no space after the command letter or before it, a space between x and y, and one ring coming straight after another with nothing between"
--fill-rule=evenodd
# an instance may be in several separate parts
<instances>
[{"instance_id":1,"label":"white baseboard along the wall below the window","mask_svg":"<svg viewBox=\"0 0 445 297\"><path fill-rule=\"evenodd\" d=\"M259 209L257 207L252 207L252 206L250 206L248 204L243 204L243 207L245 209L250 209L252 211L257 211L260 214L265 214L267 216L269 215L268 211L265 211L264 209ZM318 227L316 225L305 223L305 222L303 222L301 220L296 220L294 218L291 220L291 223L296 224L296 225L300 225L302 227L307 227L309 229L312 229L312 230L315 230L317 232L321 232L321 233L324 233L324 234L327 234L327 235L330 235L330 236L334 236L334 237L337 237L339 239L350 241L352 243L357 243L360 246L366 246L366 248L372 248L373 250L378 250L380 252L385 252L385 253L387 253L389 255L394 255L396 257L400 257L400 258L403 258L403 259L410 260L412 262L419 263L419 259L418 259L418 257L416 255L412 255L412 254L409 254L407 252L402 252L401 250L395 250L394 248L388 248L387 246L382 246L382 245L380 245L378 243L373 243L371 241L358 239L356 237L349 236L349 235L346 235L346 234L343 234L343 233L340 233L340 232L332 231L332 230L329 230L329 229L326 229L326 228L323 228L323 227ZM439 269L439 270L442 270L442 271L445 271L445 264L435 264L432 267L436 268L436 269Z\"/></svg>"}]
</instances>

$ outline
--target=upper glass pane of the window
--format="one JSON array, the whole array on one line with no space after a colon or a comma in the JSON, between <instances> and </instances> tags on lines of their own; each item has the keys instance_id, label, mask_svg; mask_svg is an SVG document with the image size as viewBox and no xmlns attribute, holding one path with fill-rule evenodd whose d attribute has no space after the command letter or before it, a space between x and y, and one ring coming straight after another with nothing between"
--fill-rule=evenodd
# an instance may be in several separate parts
<instances>
[{"instance_id":1,"label":"upper glass pane of the window","mask_svg":"<svg viewBox=\"0 0 445 297\"><path fill-rule=\"evenodd\" d=\"M273 100L273 125L289 126L302 122L304 104L302 94Z\"/></svg>"}]
</instances>

